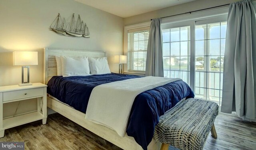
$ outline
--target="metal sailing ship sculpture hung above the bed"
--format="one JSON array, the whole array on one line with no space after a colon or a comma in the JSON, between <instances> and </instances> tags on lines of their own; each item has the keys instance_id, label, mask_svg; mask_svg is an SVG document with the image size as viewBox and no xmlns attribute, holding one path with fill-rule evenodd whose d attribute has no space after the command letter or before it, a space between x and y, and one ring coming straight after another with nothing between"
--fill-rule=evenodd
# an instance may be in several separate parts
<instances>
[{"instance_id":1,"label":"metal sailing ship sculpture hung above the bed","mask_svg":"<svg viewBox=\"0 0 256 150\"><path fill-rule=\"evenodd\" d=\"M90 37L90 32L86 23L81 20L80 15L78 15L77 20L75 20L74 15L75 14L72 14L70 22L66 23L65 18L62 19L59 13L52 22L50 30L64 36Z\"/></svg>"}]
</instances>

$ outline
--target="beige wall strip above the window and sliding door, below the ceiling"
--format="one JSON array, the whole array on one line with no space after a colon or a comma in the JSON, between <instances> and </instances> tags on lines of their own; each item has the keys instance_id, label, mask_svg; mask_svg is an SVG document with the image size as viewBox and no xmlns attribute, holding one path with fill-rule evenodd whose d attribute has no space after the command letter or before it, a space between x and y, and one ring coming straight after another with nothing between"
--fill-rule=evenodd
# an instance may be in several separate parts
<instances>
[{"instance_id":1,"label":"beige wall strip above the window and sliding door, below the ceiling","mask_svg":"<svg viewBox=\"0 0 256 150\"><path fill-rule=\"evenodd\" d=\"M138 23L144 23L150 21L150 19L160 18L165 16L171 16L181 14L185 12L192 12L194 10L200 10L204 8L210 8L214 6L220 6L224 4L230 4L239 0L196 0L177 6L172 6L128 18L124 18L124 25L133 25Z\"/></svg>"}]
</instances>

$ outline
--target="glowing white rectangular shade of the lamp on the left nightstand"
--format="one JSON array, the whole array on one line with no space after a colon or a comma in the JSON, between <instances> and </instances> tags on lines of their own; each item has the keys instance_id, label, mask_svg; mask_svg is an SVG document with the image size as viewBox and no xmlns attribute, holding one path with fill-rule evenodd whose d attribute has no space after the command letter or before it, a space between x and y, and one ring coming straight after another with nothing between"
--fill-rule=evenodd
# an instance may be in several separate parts
<instances>
[{"instance_id":1,"label":"glowing white rectangular shade of the lamp on the left nightstand","mask_svg":"<svg viewBox=\"0 0 256 150\"><path fill-rule=\"evenodd\" d=\"M38 65L38 52L14 51L13 65Z\"/></svg>"}]
</instances>

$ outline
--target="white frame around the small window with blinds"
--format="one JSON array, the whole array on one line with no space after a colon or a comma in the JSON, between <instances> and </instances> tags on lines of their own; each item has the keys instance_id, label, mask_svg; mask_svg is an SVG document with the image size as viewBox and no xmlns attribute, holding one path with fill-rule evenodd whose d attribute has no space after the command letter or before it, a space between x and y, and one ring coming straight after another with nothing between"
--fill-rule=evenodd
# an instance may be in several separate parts
<instances>
[{"instance_id":1,"label":"white frame around the small window with blinds","mask_svg":"<svg viewBox=\"0 0 256 150\"><path fill-rule=\"evenodd\" d=\"M146 22L146 23L140 23L140 24L129 25L129 26L125 26L124 27L124 55L127 56L127 54L128 54L128 31L129 30L135 30L135 29L140 29L140 28L143 29L143 28L146 28L146 27L150 27L150 23L151 22ZM145 71L129 71L128 70L128 64L124 64L124 73L145 75Z\"/></svg>"}]
</instances>

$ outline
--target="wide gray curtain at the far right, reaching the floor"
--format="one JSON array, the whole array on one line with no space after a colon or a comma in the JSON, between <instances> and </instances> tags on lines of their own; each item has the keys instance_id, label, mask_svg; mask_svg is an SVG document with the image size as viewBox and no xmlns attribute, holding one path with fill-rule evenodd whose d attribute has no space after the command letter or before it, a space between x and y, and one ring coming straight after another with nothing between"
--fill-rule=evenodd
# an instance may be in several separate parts
<instances>
[{"instance_id":1,"label":"wide gray curtain at the far right, reaching the floor","mask_svg":"<svg viewBox=\"0 0 256 150\"><path fill-rule=\"evenodd\" d=\"M256 19L250 0L229 7L221 111L255 118Z\"/></svg>"}]
</instances>

